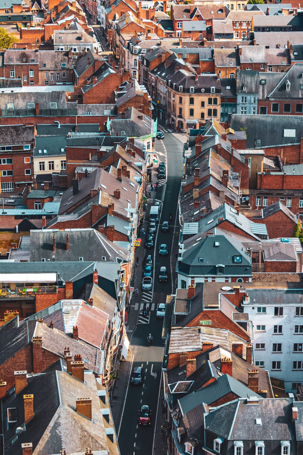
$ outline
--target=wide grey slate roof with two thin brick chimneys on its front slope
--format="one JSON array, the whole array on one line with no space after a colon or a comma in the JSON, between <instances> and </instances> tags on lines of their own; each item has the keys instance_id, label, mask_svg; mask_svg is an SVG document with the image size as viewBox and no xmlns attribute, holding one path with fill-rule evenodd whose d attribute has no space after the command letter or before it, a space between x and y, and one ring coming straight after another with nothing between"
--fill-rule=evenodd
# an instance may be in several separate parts
<instances>
[{"instance_id":1,"label":"wide grey slate roof with two thin brick chimneys on its front slope","mask_svg":"<svg viewBox=\"0 0 303 455\"><path fill-rule=\"evenodd\" d=\"M69 235L69 251L66 251L66 236ZM55 251L53 251L53 235L55 235ZM30 232L30 262L39 262L41 258L51 261L84 261L101 260L116 262L117 258L127 260L128 251L110 242L95 229L69 229L53 231L51 229L33 230Z\"/></svg>"}]
</instances>

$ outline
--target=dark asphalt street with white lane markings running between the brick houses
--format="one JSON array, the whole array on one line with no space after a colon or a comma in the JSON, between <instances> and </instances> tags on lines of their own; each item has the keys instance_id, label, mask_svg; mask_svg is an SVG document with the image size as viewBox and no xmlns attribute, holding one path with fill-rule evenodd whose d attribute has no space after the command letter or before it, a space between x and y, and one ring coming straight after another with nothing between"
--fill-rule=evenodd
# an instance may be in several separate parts
<instances>
[{"instance_id":1,"label":"dark asphalt street with white lane markings running between the brick houses","mask_svg":"<svg viewBox=\"0 0 303 455\"><path fill-rule=\"evenodd\" d=\"M172 134L164 133L163 141L156 139L154 147L157 152L160 152L161 161L165 160L165 154L167 156L167 182L159 225L161 226L164 221L169 221L169 212L173 214L169 232L162 233L160 228L158 228L155 249L146 250L147 254L154 254L155 273L152 301L155 303L156 308L158 303L165 303L166 295L172 292L170 263L174 237L174 220L177 212L180 181L183 175L183 143ZM160 193L159 188L156 198ZM177 230L179 230L179 227ZM158 250L160 243L166 243L168 245L168 256L159 256ZM161 266L166 266L169 272L167 283L159 283L158 281ZM161 366L164 354L164 341L161 338L163 319L156 319L155 313L155 310L150 312L148 324L137 325L131 339L131 349L134 354L132 369L135 366L142 365L145 376L142 385L129 385L125 397L124 413L119 431L121 455L152 455ZM147 347L147 336L149 333L153 336L153 342ZM138 410L142 404L148 404L152 411L151 425L148 427L138 425ZM159 412L161 410L160 404Z\"/></svg>"}]
</instances>

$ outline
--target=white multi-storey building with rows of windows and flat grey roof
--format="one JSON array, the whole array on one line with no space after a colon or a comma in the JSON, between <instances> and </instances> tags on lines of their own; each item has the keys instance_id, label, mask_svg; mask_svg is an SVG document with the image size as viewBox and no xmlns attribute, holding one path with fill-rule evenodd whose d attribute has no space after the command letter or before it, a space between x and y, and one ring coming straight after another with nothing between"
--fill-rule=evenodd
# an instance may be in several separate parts
<instances>
[{"instance_id":1,"label":"white multi-storey building with rows of windows and flat grey roof","mask_svg":"<svg viewBox=\"0 0 303 455\"><path fill-rule=\"evenodd\" d=\"M253 323L254 364L284 381L303 384L303 289L246 289L243 312Z\"/></svg>"}]
</instances>

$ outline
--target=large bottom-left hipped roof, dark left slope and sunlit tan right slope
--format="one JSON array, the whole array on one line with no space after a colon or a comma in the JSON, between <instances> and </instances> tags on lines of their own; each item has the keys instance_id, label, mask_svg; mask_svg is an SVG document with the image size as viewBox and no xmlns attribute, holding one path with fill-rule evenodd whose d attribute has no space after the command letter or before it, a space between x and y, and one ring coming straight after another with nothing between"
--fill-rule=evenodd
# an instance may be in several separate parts
<instances>
[{"instance_id":1,"label":"large bottom-left hipped roof, dark left slope and sunlit tan right slope","mask_svg":"<svg viewBox=\"0 0 303 455\"><path fill-rule=\"evenodd\" d=\"M94 452L104 450L109 453L110 441L105 433L101 401L93 374L85 374L85 383L59 370L29 377L27 381L27 386L18 395L3 401L2 419L7 416L8 407L18 409L17 422L10 424L4 433L5 453L21 455L21 444L27 443L29 439L37 455L51 451L60 453L63 446L69 453L84 452L87 447L91 447ZM17 444L13 445L11 440L15 436L15 430L24 423L23 394L34 395L35 414L26 424L26 432L19 434ZM47 400L45 396L48 397ZM87 396L92 399L91 420L75 409L76 399Z\"/></svg>"}]
</instances>

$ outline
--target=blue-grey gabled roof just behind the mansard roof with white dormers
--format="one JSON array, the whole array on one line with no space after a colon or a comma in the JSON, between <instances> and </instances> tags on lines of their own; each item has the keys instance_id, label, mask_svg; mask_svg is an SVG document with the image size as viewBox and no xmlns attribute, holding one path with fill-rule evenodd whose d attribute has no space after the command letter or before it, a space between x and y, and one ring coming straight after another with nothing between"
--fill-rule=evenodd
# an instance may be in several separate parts
<instances>
[{"instance_id":1,"label":"blue-grey gabled roof just behind the mansard roof with white dormers","mask_svg":"<svg viewBox=\"0 0 303 455\"><path fill-rule=\"evenodd\" d=\"M203 389L180 398L178 402L182 413L185 414L201 403L210 405L229 393L233 393L239 398L250 396L262 398L236 379L233 379L229 374L224 374Z\"/></svg>"}]
</instances>

